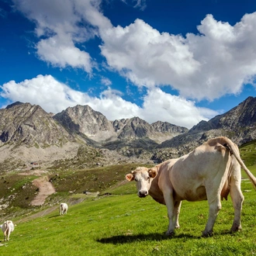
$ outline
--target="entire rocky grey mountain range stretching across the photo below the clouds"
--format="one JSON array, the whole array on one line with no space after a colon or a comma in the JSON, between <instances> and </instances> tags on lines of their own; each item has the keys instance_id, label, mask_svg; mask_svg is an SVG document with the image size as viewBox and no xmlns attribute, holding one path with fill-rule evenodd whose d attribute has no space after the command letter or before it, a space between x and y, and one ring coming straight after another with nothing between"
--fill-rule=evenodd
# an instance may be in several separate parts
<instances>
[{"instance_id":1,"label":"entire rocky grey mountain range stretching across the photo below the clouds","mask_svg":"<svg viewBox=\"0 0 256 256\"><path fill-rule=\"evenodd\" d=\"M239 145L255 140L256 98L191 130L161 121L150 124L140 117L110 121L90 106L69 107L56 115L21 102L0 109L0 162L6 170L35 160L70 168L160 162L217 136Z\"/></svg>"}]
</instances>

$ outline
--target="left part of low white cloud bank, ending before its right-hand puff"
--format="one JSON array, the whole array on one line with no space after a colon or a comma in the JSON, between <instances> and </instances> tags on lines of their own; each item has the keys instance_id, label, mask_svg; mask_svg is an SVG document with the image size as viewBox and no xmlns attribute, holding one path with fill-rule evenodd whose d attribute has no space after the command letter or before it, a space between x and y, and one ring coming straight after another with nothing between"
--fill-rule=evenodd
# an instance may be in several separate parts
<instances>
[{"instance_id":1,"label":"left part of low white cloud bank, ending before its right-hand puff","mask_svg":"<svg viewBox=\"0 0 256 256\"><path fill-rule=\"evenodd\" d=\"M108 119L130 118L138 112L139 107L121 98L122 93L110 88L99 97L90 97L87 93L78 92L51 75L38 75L19 83L9 81L0 86L3 98L12 102L30 102L40 105L47 112L61 112L69 106L89 105Z\"/></svg>"}]
</instances>

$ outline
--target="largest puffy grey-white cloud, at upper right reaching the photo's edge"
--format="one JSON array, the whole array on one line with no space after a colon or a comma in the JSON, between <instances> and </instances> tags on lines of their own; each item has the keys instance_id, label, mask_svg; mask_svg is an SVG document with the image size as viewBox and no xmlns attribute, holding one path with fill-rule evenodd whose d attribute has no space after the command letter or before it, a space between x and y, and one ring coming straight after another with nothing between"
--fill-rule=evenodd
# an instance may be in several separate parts
<instances>
[{"instance_id":1,"label":"largest puffy grey-white cloud, at upper right reaching the photo's edge","mask_svg":"<svg viewBox=\"0 0 256 256\"><path fill-rule=\"evenodd\" d=\"M99 29L102 55L135 85L170 85L186 98L238 94L256 74L256 12L234 26L208 15L200 34L159 33L137 19L130 26Z\"/></svg>"}]
</instances>

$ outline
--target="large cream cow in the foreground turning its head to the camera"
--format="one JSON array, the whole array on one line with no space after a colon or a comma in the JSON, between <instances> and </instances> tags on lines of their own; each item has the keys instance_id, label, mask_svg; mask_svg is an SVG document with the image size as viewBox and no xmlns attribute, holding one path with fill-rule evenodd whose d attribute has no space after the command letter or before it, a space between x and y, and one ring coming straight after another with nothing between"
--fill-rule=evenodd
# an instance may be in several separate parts
<instances>
[{"instance_id":1,"label":"large cream cow in the foreground turning its head to the camera","mask_svg":"<svg viewBox=\"0 0 256 256\"><path fill-rule=\"evenodd\" d=\"M126 179L137 182L140 197L151 195L155 201L167 206L169 225L166 234L169 236L179 228L182 200L208 200L209 216L202 236L209 237L213 235L221 200L227 200L229 194L234 206L230 232L242 228L240 216L244 195L240 189L240 167L256 189L256 178L241 160L237 144L227 137L216 137L182 157L164 161L153 168L136 168L126 175Z\"/></svg>"}]
</instances>

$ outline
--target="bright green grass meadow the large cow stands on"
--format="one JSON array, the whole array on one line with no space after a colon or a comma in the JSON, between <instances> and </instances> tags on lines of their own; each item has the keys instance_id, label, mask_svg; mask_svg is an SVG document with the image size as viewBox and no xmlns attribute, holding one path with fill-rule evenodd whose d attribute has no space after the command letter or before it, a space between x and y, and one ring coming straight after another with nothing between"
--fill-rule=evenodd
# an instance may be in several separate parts
<instances>
[{"instance_id":1,"label":"bright green grass meadow the large cow stands on","mask_svg":"<svg viewBox=\"0 0 256 256\"><path fill-rule=\"evenodd\" d=\"M255 144L240 148L245 164L256 175ZM230 196L222 202L213 237L201 237L208 218L208 203L182 202L181 228L174 237L164 235L167 209L148 196L137 197L135 182L107 189L110 195L87 198L26 220L16 216L16 229L1 255L254 255L256 254L256 191L242 171L242 227L230 234L234 209ZM123 177L124 179L124 177ZM79 197L79 195L76 195ZM82 196L82 195L81 195Z\"/></svg>"}]
</instances>

